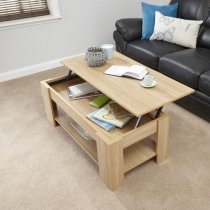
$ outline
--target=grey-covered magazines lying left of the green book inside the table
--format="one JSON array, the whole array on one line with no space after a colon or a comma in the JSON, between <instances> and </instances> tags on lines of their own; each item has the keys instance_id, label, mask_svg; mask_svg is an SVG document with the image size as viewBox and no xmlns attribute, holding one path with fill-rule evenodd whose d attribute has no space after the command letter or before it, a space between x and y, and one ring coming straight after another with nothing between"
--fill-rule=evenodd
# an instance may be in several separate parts
<instances>
[{"instance_id":1,"label":"grey-covered magazines lying left of the green book inside the table","mask_svg":"<svg viewBox=\"0 0 210 210\"><path fill-rule=\"evenodd\" d=\"M101 95L101 92L87 82L72 85L67 88L70 100L88 98Z\"/></svg>"}]
</instances>

